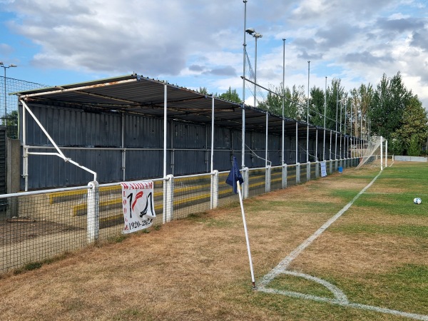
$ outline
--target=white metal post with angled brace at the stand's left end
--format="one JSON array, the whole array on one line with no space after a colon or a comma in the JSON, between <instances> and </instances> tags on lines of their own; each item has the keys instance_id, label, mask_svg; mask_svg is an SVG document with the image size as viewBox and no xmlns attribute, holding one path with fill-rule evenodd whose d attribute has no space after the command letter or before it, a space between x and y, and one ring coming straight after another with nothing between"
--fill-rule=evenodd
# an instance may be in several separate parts
<instances>
[{"instance_id":1,"label":"white metal post with angled brace at the stand's left end","mask_svg":"<svg viewBox=\"0 0 428 321\"><path fill-rule=\"evenodd\" d=\"M46 135L46 137L49 139L49 141L51 142L51 144L54 146L54 148L56 149L56 151L58 151L58 153L29 153L28 150L31 146L26 146L25 142L26 142L26 128L23 128L23 142L24 142L24 165L25 165L25 169L24 169L24 179L25 179L25 191L28 190L28 155L52 155L52 156L58 156L60 158L63 159L63 161L67 162L67 163L71 163L73 165L76 165L79 168L82 168L83 170L86 170L88 173L91 173L93 175L93 180L96 181L96 172L94 172L93 170L90 170L89 168L86 168L83 165L80 165L79 163L76 163L75 161L73 161L71 158L66 158L66 156L64 156L63 152L61 151L61 149L58 148L58 146L56 145L55 141L51 138L51 136L49 135L49 133L46 131L46 129L44 128L44 126L40 123L39 119L37 119L37 117L34 115L34 113L30 110L29 106L27 106L27 104L25 103L24 100L20 99L22 106L24 106L24 113L23 113L23 118L25 119L25 110L29 112L29 114L31 115L31 117L33 117L34 121L36 121L37 125L39 126L39 128L41 129L41 131L44 132L44 134ZM25 126L25 121L23 121L24 126Z\"/></svg>"}]
</instances>

